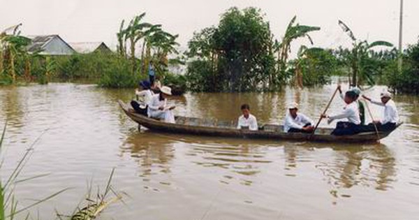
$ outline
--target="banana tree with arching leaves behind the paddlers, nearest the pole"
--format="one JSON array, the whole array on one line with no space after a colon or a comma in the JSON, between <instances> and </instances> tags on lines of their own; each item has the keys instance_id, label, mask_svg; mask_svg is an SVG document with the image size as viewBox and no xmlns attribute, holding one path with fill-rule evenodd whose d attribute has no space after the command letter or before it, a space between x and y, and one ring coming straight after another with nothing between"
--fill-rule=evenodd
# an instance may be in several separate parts
<instances>
[{"instance_id":1,"label":"banana tree with arching leaves behind the paddlers, nearest the pole","mask_svg":"<svg viewBox=\"0 0 419 220\"><path fill-rule=\"evenodd\" d=\"M352 49L341 50L340 56L344 63L351 69L350 82L352 87L357 87L367 82L368 85L375 85L374 70L369 66L371 59L371 51L374 47L392 47L392 43L387 41L358 41L351 29L341 20L338 22L341 29L348 34L352 41Z\"/></svg>"}]
</instances>

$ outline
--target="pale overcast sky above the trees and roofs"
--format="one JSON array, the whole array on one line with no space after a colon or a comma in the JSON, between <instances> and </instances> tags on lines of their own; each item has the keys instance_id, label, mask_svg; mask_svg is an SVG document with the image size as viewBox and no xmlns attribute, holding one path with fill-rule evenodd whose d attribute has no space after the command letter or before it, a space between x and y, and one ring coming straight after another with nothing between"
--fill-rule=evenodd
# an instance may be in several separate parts
<instances>
[{"instance_id":1,"label":"pale overcast sky above the trees and roofs","mask_svg":"<svg viewBox=\"0 0 419 220\"><path fill-rule=\"evenodd\" d=\"M419 35L419 1L404 0L404 45ZM399 0L0 0L0 30L22 22L22 34L59 34L68 42L104 41L116 46L122 19L147 12L147 22L163 24L186 47L193 31L217 24L232 6L261 8L277 38L293 15L300 24L321 27L311 36L316 46L350 43L337 21L343 20L358 38L397 45ZM300 43L307 43L300 41Z\"/></svg>"}]
</instances>

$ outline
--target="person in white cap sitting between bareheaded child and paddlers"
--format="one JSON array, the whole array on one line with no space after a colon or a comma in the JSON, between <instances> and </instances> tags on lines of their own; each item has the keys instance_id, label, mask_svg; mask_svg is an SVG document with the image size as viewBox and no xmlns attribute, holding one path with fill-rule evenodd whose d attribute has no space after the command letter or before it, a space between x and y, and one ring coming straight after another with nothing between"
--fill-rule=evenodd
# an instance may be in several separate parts
<instances>
[{"instance_id":1,"label":"person in white cap sitting between bareheaded child and paddlers","mask_svg":"<svg viewBox=\"0 0 419 220\"><path fill-rule=\"evenodd\" d=\"M306 115L298 112L297 103L287 105L288 113L284 119L284 132L288 133L311 133L314 127L313 121Z\"/></svg>"}]
</instances>

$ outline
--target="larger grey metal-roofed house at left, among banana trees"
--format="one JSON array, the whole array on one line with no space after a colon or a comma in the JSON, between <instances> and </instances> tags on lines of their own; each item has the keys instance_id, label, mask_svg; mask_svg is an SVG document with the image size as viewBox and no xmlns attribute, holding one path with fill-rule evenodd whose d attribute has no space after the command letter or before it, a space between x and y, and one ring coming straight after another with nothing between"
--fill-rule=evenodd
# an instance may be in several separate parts
<instances>
[{"instance_id":1,"label":"larger grey metal-roofed house at left, among banana trees","mask_svg":"<svg viewBox=\"0 0 419 220\"><path fill-rule=\"evenodd\" d=\"M59 35L29 36L32 43L28 52L38 52L41 55L71 55L75 53L73 47L68 45Z\"/></svg>"}]
</instances>

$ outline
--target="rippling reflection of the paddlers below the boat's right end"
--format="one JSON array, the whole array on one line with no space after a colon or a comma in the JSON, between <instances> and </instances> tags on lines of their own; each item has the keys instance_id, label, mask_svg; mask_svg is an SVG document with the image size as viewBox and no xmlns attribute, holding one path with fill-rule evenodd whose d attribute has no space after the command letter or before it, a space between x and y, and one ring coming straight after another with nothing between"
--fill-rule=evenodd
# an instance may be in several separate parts
<instances>
[{"instance_id":1,"label":"rippling reflection of the paddlers below the boat's right end","mask_svg":"<svg viewBox=\"0 0 419 220\"><path fill-rule=\"evenodd\" d=\"M332 147L332 160L319 161L318 170L335 188L353 186L388 190L395 181L395 157L385 145L360 147Z\"/></svg>"}]
</instances>

